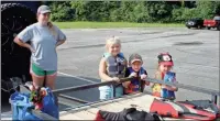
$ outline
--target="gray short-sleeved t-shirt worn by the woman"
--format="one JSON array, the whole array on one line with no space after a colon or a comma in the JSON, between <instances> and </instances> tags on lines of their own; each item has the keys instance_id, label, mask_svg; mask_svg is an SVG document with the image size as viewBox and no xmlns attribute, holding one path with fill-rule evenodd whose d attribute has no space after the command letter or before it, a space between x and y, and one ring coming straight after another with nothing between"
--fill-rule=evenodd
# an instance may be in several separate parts
<instances>
[{"instance_id":1,"label":"gray short-sleeved t-shirt worn by the woman","mask_svg":"<svg viewBox=\"0 0 220 121\"><path fill-rule=\"evenodd\" d=\"M57 53L56 43L66 40L66 35L54 25L56 35L52 34L48 26L34 23L26 26L18 37L22 42L31 42L31 46L35 50L31 56L31 63L34 63L44 70L57 70Z\"/></svg>"}]
</instances>

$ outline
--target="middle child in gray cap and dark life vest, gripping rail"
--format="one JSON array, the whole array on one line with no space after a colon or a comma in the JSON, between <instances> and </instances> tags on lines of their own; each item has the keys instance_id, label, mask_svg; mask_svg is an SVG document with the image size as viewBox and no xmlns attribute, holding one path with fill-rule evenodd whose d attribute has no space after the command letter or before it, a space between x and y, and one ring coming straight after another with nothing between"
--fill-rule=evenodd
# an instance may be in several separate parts
<instances>
[{"instance_id":1,"label":"middle child in gray cap and dark life vest, gripping rail","mask_svg":"<svg viewBox=\"0 0 220 121\"><path fill-rule=\"evenodd\" d=\"M125 70L125 77L141 77L141 81L135 78L131 81L123 82L124 94L133 94L138 91L143 91L145 85L150 85L148 81L144 81L147 77L146 70L142 67L143 61L141 55L132 54L129 57L129 67ZM141 84L140 84L141 82Z\"/></svg>"}]
</instances>

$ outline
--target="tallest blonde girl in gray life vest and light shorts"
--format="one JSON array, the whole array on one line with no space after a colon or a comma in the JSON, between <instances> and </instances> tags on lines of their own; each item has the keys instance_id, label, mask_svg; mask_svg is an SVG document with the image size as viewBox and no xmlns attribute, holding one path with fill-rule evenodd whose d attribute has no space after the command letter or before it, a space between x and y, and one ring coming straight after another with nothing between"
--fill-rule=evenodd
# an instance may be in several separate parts
<instances>
[{"instance_id":1,"label":"tallest blonde girl in gray life vest and light shorts","mask_svg":"<svg viewBox=\"0 0 220 121\"><path fill-rule=\"evenodd\" d=\"M127 59L121 53L121 41L113 36L106 42L107 52L103 54L99 64L99 76L101 81L117 81L116 97L121 97L123 95L123 87L120 84L120 78L124 77L127 68ZM113 98L113 86L101 86L100 99L111 99Z\"/></svg>"}]
</instances>

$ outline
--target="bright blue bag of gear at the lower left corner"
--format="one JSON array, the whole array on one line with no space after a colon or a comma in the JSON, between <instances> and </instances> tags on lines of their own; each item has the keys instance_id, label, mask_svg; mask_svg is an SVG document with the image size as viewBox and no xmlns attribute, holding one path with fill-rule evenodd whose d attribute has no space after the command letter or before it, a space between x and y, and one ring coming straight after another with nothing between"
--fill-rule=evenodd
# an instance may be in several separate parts
<instances>
[{"instance_id":1,"label":"bright blue bag of gear at the lower left corner","mask_svg":"<svg viewBox=\"0 0 220 121\"><path fill-rule=\"evenodd\" d=\"M55 97L50 88L46 88L47 95L43 98L42 112L47 113L57 120L59 119L58 107L55 101ZM34 105L29 100L30 94L14 92L11 95L9 101L11 103L12 120L35 120L43 121L34 114L31 110L34 109Z\"/></svg>"}]
</instances>

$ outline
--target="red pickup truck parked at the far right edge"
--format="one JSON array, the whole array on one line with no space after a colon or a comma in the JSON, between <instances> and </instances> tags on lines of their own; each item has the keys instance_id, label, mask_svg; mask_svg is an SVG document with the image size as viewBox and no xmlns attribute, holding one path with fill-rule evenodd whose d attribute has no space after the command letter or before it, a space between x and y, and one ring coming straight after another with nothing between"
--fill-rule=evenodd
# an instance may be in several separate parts
<instances>
[{"instance_id":1,"label":"red pickup truck parked at the far right edge","mask_svg":"<svg viewBox=\"0 0 220 121\"><path fill-rule=\"evenodd\" d=\"M208 30L217 28L220 31L220 15L216 15L213 20L204 20L204 26Z\"/></svg>"}]
</instances>

